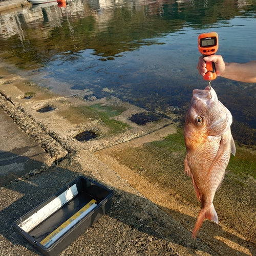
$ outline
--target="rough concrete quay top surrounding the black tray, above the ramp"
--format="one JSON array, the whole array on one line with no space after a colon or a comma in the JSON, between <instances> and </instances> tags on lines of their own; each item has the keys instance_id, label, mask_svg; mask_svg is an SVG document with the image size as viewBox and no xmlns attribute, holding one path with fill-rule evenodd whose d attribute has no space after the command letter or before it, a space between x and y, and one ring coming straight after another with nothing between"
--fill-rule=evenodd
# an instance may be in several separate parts
<instances>
[{"instance_id":1,"label":"rough concrete quay top surrounding the black tray, above the ramp","mask_svg":"<svg viewBox=\"0 0 256 256\"><path fill-rule=\"evenodd\" d=\"M1 174L6 177L1 179L0 191L0 216L4 220L0 228L1 255L38 254L12 229L12 223L79 175L113 189L115 197L111 210L61 255L201 255L200 250L204 255L215 255L91 153L68 154L57 165L52 161L49 166L50 155L2 109L0 113L4 131Z\"/></svg>"}]
</instances>

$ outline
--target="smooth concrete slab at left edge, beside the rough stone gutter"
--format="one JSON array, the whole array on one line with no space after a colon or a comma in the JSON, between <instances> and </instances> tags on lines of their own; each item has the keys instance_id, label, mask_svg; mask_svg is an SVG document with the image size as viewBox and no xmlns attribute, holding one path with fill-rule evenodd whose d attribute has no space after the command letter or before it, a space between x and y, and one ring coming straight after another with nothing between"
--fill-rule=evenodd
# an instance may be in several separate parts
<instances>
[{"instance_id":1,"label":"smooth concrete slab at left edge, beside the rough stone gutter","mask_svg":"<svg viewBox=\"0 0 256 256\"><path fill-rule=\"evenodd\" d=\"M40 169L51 157L0 108L0 186Z\"/></svg>"}]
</instances>

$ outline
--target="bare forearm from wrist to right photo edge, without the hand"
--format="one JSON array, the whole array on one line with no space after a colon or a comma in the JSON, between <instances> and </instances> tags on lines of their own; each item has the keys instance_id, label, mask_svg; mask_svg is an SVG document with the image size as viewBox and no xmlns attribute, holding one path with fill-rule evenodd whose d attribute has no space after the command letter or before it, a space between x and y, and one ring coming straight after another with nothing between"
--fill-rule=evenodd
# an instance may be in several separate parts
<instances>
[{"instance_id":1,"label":"bare forearm from wrist to right photo edge, without the hand","mask_svg":"<svg viewBox=\"0 0 256 256\"><path fill-rule=\"evenodd\" d=\"M225 63L225 70L220 76L241 82L256 83L256 61Z\"/></svg>"}]
</instances>

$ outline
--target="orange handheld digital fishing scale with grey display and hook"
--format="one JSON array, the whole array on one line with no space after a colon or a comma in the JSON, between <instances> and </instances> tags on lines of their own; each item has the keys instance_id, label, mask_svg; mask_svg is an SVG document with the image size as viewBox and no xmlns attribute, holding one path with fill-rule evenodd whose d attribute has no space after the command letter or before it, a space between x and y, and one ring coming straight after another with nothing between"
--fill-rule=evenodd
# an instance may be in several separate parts
<instances>
[{"instance_id":1,"label":"orange handheld digital fishing scale with grey display and hook","mask_svg":"<svg viewBox=\"0 0 256 256\"><path fill-rule=\"evenodd\" d=\"M215 54L219 47L218 34L216 32L203 33L198 36L198 48L200 53L204 57ZM214 62L205 62L207 72L204 75L204 79L209 81L214 80L216 75L215 63Z\"/></svg>"}]
</instances>

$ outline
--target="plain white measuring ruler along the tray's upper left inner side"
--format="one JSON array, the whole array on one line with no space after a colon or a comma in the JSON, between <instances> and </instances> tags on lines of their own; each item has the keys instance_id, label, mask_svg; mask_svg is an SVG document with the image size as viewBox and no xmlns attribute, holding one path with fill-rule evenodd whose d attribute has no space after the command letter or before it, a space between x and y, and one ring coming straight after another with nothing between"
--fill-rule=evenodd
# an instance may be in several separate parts
<instances>
[{"instance_id":1,"label":"plain white measuring ruler along the tray's upper left inner side","mask_svg":"<svg viewBox=\"0 0 256 256\"><path fill-rule=\"evenodd\" d=\"M22 221L18 226L24 231L29 232L39 223L41 223L50 215L52 215L55 211L57 211L62 205L69 202L77 194L77 187L76 184L74 184L61 195L52 200L49 204L45 205L40 210L31 215L28 219Z\"/></svg>"}]
</instances>

